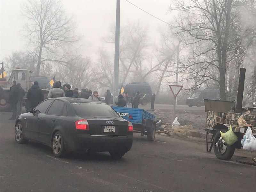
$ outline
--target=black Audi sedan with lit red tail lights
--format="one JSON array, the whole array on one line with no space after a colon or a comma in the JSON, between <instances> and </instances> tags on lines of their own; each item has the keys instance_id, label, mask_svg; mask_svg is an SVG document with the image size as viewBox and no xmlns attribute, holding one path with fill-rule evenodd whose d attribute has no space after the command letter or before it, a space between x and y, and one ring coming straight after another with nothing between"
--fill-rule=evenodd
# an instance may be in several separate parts
<instances>
[{"instance_id":1,"label":"black Audi sedan with lit red tail lights","mask_svg":"<svg viewBox=\"0 0 256 192\"><path fill-rule=\"evenodd\" d=\"M16 119L15 140L43 143L56 157L90 150L120 158L132 147L132 124L100 101L51 98L27 111Z\"/></svg>"}]
</instances>

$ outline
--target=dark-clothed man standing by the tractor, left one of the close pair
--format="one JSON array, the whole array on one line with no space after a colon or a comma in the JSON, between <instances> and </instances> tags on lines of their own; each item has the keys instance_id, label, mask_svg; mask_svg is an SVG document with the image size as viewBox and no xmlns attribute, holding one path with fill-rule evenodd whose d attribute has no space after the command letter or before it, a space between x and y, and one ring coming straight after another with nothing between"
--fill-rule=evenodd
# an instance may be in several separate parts
<instances>
[{"instance_id":1,"label":"dark-clothed man standing by the tractor, left one of the close pair","mask_svg":"<svg viewBox=\"0 0 256 192\"><path fill-rule=\"evenodd\" d=\"M11 110L12 110L12 117L9 118L10 120L16 119L18 100L19 100L19 88L16 85L16 81L13 81L12 86L10 87L10 94L9 94L9 103L11 104Z\"/></svg>"}]
</instances>

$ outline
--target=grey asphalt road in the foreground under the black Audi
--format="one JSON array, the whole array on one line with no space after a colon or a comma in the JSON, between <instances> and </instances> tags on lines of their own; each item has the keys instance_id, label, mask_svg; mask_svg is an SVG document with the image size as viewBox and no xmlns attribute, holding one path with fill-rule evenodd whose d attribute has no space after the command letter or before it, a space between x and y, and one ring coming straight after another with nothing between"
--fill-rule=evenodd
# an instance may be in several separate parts
<instances>
[{"instance_id":1,"label":"grey asphalt road in the foreground under the black Audi","mask_svg":"<svg viewBox=\"0 0 256 192\"><path fill-rule=\"evenodd\" d=\"M50 148L14 140L0 113L0 191L256 191L256 167L221 161L200 143L134 133L120 160L108 153L55 158ZM239 155L236 153L236 155Z\"/></svg>"}]
</instances>

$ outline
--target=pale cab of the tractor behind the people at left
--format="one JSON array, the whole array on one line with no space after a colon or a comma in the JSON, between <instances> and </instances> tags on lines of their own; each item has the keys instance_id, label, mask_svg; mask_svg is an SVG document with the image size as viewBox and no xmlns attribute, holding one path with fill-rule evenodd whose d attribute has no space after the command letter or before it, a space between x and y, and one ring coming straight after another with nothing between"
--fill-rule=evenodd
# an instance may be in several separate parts
<instances>
[{"instance_id":1,"label":"pale cab of the tractor behind the people at left","mask_svg":"<svg viewBox=\"0 0 256 192\"><path fill-rule=\"evenodd\" d=\"M10 86L12 86L12 82L16 81L17 84L20 83L21 87L25 90L25 92L27 92L31 86L31 73L32 71L28 69L13 69L12 74L8 80L7 88L10 88Z\"/></svg>"}]
</instances>

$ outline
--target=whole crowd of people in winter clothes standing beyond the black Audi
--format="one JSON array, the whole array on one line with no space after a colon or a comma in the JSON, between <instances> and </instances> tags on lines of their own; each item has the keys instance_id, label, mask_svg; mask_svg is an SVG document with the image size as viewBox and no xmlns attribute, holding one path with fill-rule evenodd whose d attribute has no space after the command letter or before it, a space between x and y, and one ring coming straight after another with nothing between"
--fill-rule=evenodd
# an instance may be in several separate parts
<instances>
[{"instance_id":1,"label":"whole crowd of people in winter clothes standing beyond the black Audi","mask_svg":"<svg viewBox=\"0 0 256 192\"><path fill-rule=\"evenodd\" d=\"M1 92L1 90L0 90ZM16 119L17 115L21 114L21 107L23 102L23 97L25 96L25 91L21 87L20 83L16 83L13 81L12 86L10 88L9 94L9 103L11 105L12 117L10 119ZM61 86L60 81L54 82L52 89L49 90L47 98L56 98L56 97L73 97L73 98L84 98L90 100L101 101L98 91L94 91L92 93L91 90L82 89L81 92L78 91L78 88L71 90L70 84L64 84ZM111 101L111 93L108 89L105 93L105 102L109 105ZM27 94L28 102L26 107L34 108L41 101L44 100L44 94L42 89L39 87L37 81L30 87ZM156 99L156 95L152 94L151 96L151 109L154 109L154 102ZM118 107L127 107L129 101L132 103L132 108L139 108L140 104L140 92L136 92L132 96L129 96L127 92L124 94L118 95L118 100L116 101L116 105Z\"/></svg>"}]
</instances>

